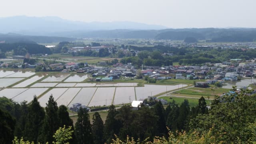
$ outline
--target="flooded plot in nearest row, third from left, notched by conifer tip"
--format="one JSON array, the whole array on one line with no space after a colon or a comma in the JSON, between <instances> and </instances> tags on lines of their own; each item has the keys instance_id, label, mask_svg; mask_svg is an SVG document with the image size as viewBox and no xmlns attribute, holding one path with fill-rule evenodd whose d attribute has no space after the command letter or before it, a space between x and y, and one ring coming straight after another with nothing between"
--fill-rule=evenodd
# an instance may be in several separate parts
<instances>
[{"instance_id":1,"label":"flooded plot in nearest row, third from left, notched by conifer tip","mask_svg":"<svg viewBox=\"0 0 256 144\"><path fill-rule=\"evenodd\" d=\"M42 107L46 107L46 103L48 102L51 94L54 100L57 100L66 90L68 90L68 88L53 88L52 90L41 96L38 99L38 102L40 102L40 105Z\"/></svg>"}]
</instances>

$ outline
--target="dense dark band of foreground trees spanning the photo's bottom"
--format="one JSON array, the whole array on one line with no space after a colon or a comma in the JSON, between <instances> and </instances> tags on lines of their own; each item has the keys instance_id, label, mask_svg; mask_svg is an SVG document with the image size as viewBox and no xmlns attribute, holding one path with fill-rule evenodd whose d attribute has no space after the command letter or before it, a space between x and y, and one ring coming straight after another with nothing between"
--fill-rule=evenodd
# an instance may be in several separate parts
<instances>
[{"instance_id":1,"label":"dense dark band of foreground trees spanning the photo's bottom","mask_svg":"<svg viewBox=\"0 0 256 144\"><path fill-rule=\"evenodd\" d=\"M126 142L129 136L142 143L158 140L157 144L166 142L162 136L185 143L253 143L256 142L256 95L251 93L241 90L216 96L210 110L203 97L195 107L190 107L186 99L180 106L173 101L166 108L152 99L144 100L138 110L130 105L118 109L112 105L105 123L98 112L94 113L91 123L88 112L81 108L75 126L66 106L58 107L52 96L45 110L36 98L30 105L0 98L0 142L11 143L17 136L30 142L51 143L52 136L65 125L74 131L68 140L71 144L111 143L116 136L116 141Z\"/></svg>"}]
</instances>

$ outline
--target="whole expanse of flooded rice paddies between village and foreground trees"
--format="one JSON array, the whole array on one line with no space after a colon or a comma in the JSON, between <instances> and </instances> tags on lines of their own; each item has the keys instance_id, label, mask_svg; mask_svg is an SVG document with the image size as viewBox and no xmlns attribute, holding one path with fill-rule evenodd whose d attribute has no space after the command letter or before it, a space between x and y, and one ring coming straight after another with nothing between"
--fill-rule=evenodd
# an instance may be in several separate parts
<instances>
[{"instance_id":1,"label":"whole expanse of flooded rice paddies between village and foreground trees","mask_svg":"<svg viewBox=\"0 0 256 144\"><path fill-rule=\"evenodd\" d=\"M46 74L33 76L34 74L33 72L24 73L21 71L1 70L0 77L2 78L0 78L0 88L3 89L0 89L0 97L12 98L16 102L22 102L24 100L31 102L34 95L36 95L40 96L38 101L41 106L45 107L52 94L58 105L72 106L74 103L81 103L86 106L104 106L110 104L126 104L133 100L140 100L148 96L166 92L166 90L170 91L187 86L186 84L174 86L145 84L142 87L137 87L138 83L127 82L77 83L88 78L88 75L81 74L74 74L73 76L70 76L70 74L53 74L42 80L42 82L35 83L44 78ZM20 76L23 78L14 78ZM32 76L32 78L24 80L25 77L29 76ZM13 88L4 88L21 80L24 81L14 85ZM64 83L59 83L63 81ZM33 85L30 86L31 84ZM50 87L53 88L48 91Z\"/></svg>"}]
</instances>

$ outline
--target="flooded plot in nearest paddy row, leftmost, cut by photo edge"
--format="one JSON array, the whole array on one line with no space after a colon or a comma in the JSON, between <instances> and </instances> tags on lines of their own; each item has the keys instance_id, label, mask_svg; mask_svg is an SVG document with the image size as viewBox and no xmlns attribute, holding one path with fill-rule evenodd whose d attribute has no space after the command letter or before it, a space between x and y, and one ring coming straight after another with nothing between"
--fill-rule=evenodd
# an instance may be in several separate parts
<instances>
[{"instance_id":1,"label":"flooded plot in nearest paddy row, leftmost, cut by photo edge","mask_svg":"<svg viewBox=\"0 0 256 144\"><path fill-rule=\"evenodd\" d=\"M13 98L25 90L28 90L28 88L6 88L0 91L0 97Z\"/></svg>"}]
</instances>

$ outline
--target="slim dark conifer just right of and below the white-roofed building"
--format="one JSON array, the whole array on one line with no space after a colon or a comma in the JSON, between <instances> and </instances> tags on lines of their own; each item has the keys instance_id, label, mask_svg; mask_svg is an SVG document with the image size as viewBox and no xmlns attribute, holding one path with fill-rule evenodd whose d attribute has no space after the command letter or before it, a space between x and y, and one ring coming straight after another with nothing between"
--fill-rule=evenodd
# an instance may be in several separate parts
<instances>
[{"instance_id":1,"label":"slim dark conifer just right of and below the white-roofed building","mask_svg":"<svg viewBox=\"0 0 256 144\"><path fill-rule=\"evenodd\" d=\"M158 133L160 134L159 136L165 136L167 134L166 117L164 107L160 101L154 105L154 113L156 116L158 116L157 129Z\"/></svg>"}]
</instances>

